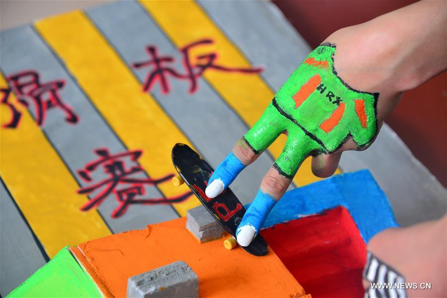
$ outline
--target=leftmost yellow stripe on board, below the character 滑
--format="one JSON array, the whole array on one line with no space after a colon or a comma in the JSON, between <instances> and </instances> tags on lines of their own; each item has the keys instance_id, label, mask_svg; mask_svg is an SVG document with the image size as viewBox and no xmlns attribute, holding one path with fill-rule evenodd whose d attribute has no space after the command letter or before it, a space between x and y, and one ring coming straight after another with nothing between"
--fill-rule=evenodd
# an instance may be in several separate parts
<instances>
[{"instance_id":1,"label":"leftmost yellow stripe on board, below the character \u6ed1","mask_svg":"<svg viewBox=\"0 0 447 298\"><path fill-rule=\"evenodd\" d=\"M1 75L0 86L7 88ZM10 116L9 107L0 105L1 124ZM1 178L50 258L66 245L110 235L97 212L79 210L87 196L76 193L72 174L26 109L16 129L0 132Z\"/></svg>"}]
</instances>

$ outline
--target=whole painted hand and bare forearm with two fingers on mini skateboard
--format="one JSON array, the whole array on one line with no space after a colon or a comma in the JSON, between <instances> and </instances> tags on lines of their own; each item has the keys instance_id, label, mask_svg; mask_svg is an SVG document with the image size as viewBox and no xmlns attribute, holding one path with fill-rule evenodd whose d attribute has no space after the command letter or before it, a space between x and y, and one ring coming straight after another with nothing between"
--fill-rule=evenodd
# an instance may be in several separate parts
<instances>
[{"instance_id":1,"label":"whole painted hand and bare forearm with two fingers on mini skateboard","mask_svg":"<svg viewBox=\"0 0 447 298\"><path fill-rule=\"evenodd\" d=\"M289 77L206 189L218 196L280 134L288 135L237 228L240 245L250 244L308 155L315 175L332 175L342 151L373 143L404 91L447 69L445 5L419 1L340 29L326 39L335 44L317 47Z\"/></svg>"}]
</instances>

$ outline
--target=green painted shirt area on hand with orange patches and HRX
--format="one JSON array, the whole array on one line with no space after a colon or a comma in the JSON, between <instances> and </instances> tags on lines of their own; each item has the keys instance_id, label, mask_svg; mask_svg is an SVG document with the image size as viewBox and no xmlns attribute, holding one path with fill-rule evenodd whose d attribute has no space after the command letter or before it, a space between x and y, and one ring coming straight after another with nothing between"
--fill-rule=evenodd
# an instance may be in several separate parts
<instances>
[{"instance_id":1,"label":"green painted shirt area on hand with orange patches and HRX","mask_svg":"<svg viewBox=\"0 0 447 298\"><path fill-rule=\"evenodd\" d=\"M286 146L275 166L293 177L311 152L332 153L352 137L358 149L377 133L378 94L349 87L334 70L334 45L313 50L276 93L259 121L244 136L260 153L283 132Z\"/></svg>"}]
</instances>

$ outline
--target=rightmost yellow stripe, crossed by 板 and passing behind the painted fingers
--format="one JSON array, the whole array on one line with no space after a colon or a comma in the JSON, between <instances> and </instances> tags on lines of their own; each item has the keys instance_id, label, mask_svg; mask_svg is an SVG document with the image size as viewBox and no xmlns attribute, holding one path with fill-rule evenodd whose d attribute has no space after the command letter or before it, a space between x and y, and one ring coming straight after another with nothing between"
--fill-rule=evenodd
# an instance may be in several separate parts
<instances>
[{"instance_id":1,"label":"rightmost yellow stripe, crossed by \u677f and passing behind the painted fingers","mask_svg":"<svg viewBox=\"0 0 447 298\"><path fill-rule=\"evenodd\" d=\"M177 47L203 38L213 38L214 45L191 51L191 57L211 51L219 55L219 64L225 67L249 67L250 64L194 1L143 1L142 5ZM259 119L274 93L260 75L205 71L204 76L224 100L251 127ZM286 144L282 135L269 150L277 158ZM307 158L298 170L294 181L305 185L320 180L313 175ZM337 169L336 173L340 173Z\"/></svg>"}]
</instances>

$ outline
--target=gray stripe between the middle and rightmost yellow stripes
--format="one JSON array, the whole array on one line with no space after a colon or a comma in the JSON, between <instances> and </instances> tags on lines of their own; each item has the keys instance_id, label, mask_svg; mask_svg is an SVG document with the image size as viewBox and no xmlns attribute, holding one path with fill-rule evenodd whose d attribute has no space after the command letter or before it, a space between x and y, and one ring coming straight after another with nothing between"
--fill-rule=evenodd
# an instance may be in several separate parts
<instances>
[{"instance_id":1,"label":"gray stripe between the middle and rightmost yellow stripes","mask_svg":"<svg viewBox=\"0 0 447 298\"><path fill-rule=\"evenodd\" d=\"M88 9L86 13L142 82L152 66L135 69L132 64L149 60L145 52L148 45L156 46L160 56L174 57L174 63L164 66L185 73L178 49L137 2L114 2ZM151 94L210 164L216 167L247 132L247 126L206 80L199 79L197 92L189 94L188 81L169 75L167 78L170 92L162 94L159 82L155 82ZM254 199L262 177L272 164L273 159L262 154L231 184L232 191L243 204Z\"/></svg>"}]
</instances>

